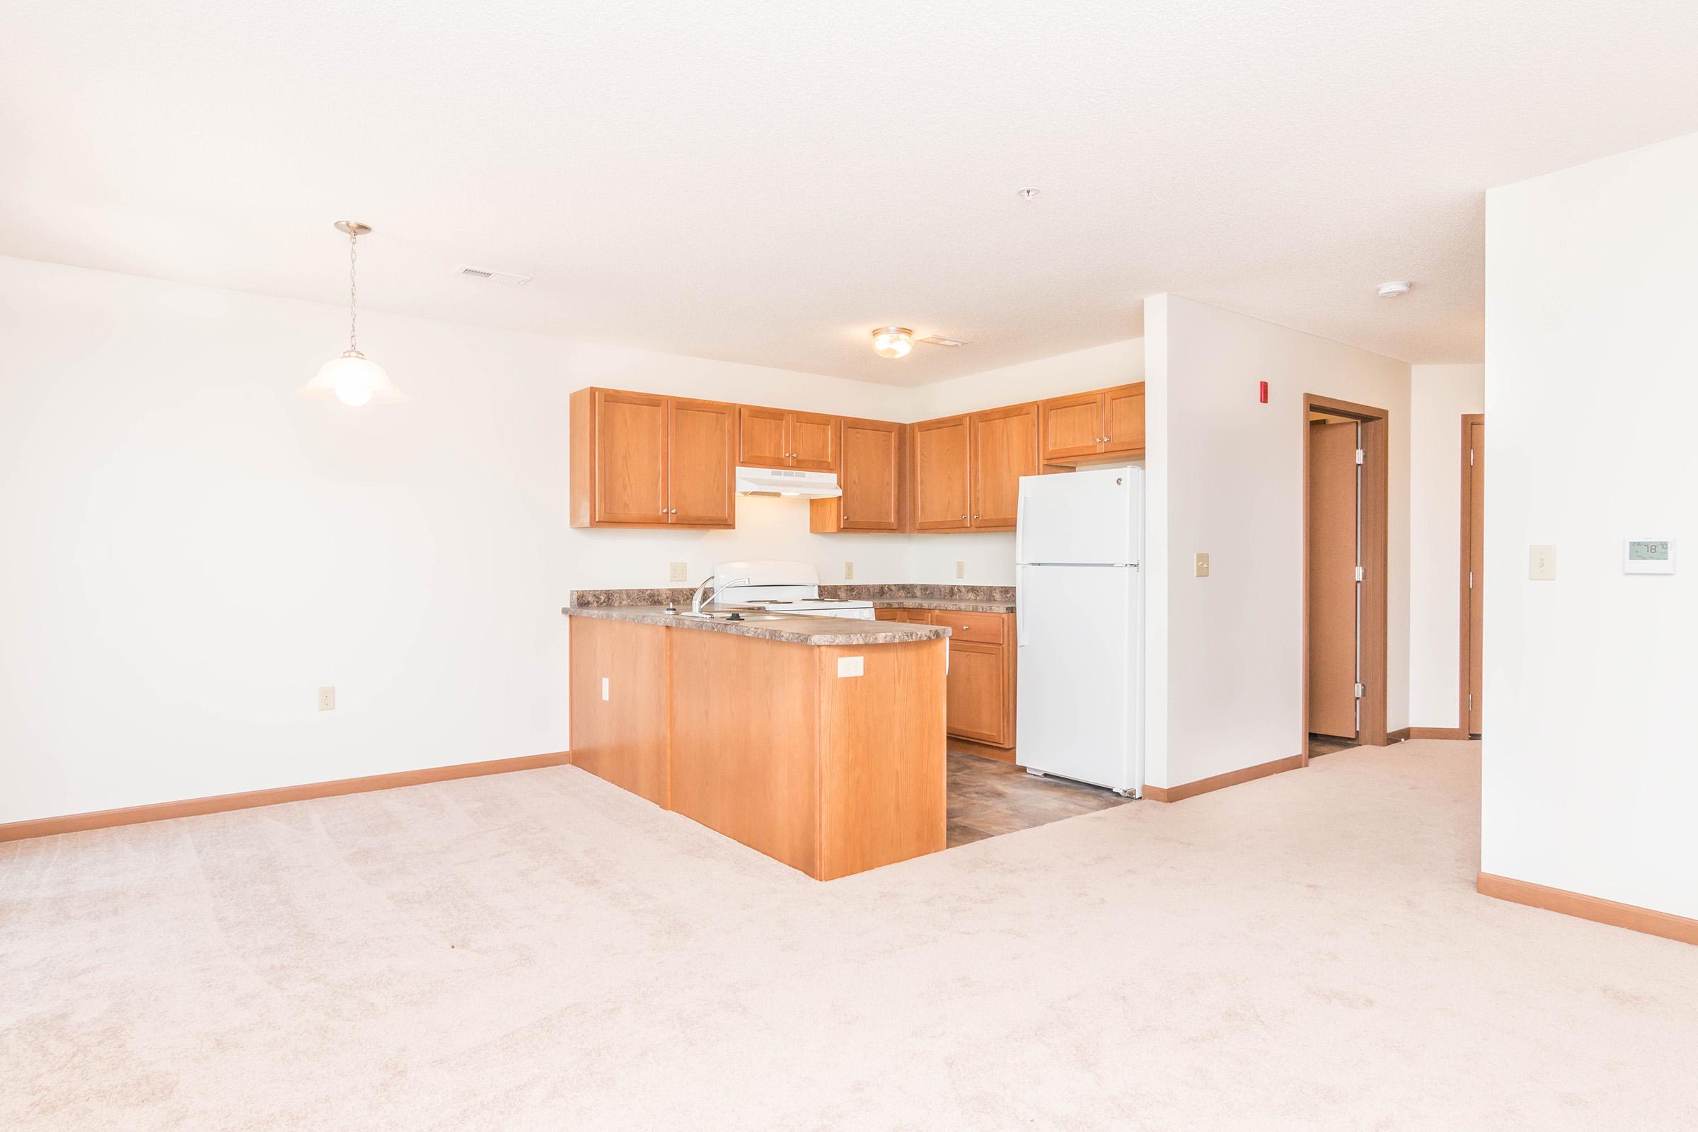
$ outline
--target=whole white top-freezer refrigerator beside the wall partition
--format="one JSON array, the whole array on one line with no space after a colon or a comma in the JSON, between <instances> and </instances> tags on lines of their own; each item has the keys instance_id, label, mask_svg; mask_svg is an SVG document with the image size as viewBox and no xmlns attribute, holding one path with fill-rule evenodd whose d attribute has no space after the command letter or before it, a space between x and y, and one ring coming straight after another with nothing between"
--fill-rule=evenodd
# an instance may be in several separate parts
<instances>
[{"instance_id":1,"label":"whole white top-freezer refrigerator beside the wall partition","mask_svg":"<svg viewBox=\"0 0 1698 1132\"><path fill-rule=\"evenodd\" d=\"M1143 798L1144 474L1020 479L1015 759Z\"/></svg>"}]
</instances>

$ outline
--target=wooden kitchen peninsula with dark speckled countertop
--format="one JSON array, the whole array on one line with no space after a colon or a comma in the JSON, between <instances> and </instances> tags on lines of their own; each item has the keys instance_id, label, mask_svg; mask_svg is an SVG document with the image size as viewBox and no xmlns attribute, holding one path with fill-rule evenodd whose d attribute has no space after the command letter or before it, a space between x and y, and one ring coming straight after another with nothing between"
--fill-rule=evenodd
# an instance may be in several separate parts
<instances>
[{"instance_id":1,"label":"wooden kitchen peninsula with dark speckled countertop","mask_svg":"<svg viewBox=\"0 0 1698 1132\"><path fill-rule=\"evenodd\" d=\"M562 613L574 765L820 881L944 847L946 626Z\"/></svg>"}]
</instances>

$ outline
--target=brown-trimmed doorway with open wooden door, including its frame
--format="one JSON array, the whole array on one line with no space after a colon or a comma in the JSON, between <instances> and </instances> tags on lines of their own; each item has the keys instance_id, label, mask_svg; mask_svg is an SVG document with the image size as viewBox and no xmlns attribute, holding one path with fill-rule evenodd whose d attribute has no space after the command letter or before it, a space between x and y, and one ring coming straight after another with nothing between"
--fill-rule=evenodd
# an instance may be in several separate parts
<instances>
[{"instance_id":1,"label":"brown-trimmed doorway with open wooden door, including its frame","mask_svg":"<svg viewBox=\"0 0 1698 1132\"><path fill-rule=\"evenodd\" d=\"M1386 745L1387 412L1302 402L1302 762Z\"/></svg>"}]
</instances>

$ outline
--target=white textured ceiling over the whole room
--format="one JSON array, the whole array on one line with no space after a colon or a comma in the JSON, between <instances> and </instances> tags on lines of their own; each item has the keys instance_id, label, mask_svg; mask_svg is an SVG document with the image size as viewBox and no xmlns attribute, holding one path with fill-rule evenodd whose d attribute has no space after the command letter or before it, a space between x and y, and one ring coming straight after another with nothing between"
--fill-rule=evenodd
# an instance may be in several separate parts
<instances>
[{"instance_id":1,"label":"white textured ceiling over the whole room","mask_svg":"<svg viewBox=\"0 0 1698 1132\"><path fill-rule=\"evenodd\" d=\"M1482 190L1698 131L1695 59L1691 0L7 0L0 253L338 302L353 217L375 309L895 384L1163 290L1469 361Z\"/></svg>"}]
</instances>

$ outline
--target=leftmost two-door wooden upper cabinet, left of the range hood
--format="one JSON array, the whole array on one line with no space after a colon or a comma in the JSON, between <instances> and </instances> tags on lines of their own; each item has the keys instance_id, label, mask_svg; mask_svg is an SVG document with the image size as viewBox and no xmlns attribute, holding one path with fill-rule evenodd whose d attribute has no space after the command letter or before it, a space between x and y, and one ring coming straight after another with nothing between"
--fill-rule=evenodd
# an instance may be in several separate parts
<instances>
[{"instance_id":1,"label":"leftmost two-door wooden upper cabinet, left of the range hood","mask_svg":"<svg viewBox=\"0 0 1698 1132\"><path fill-rule=\"evenodd\" d=\"M735 406L572 394L572 526L734 526Z\"/></svg>"}]
</instances>

